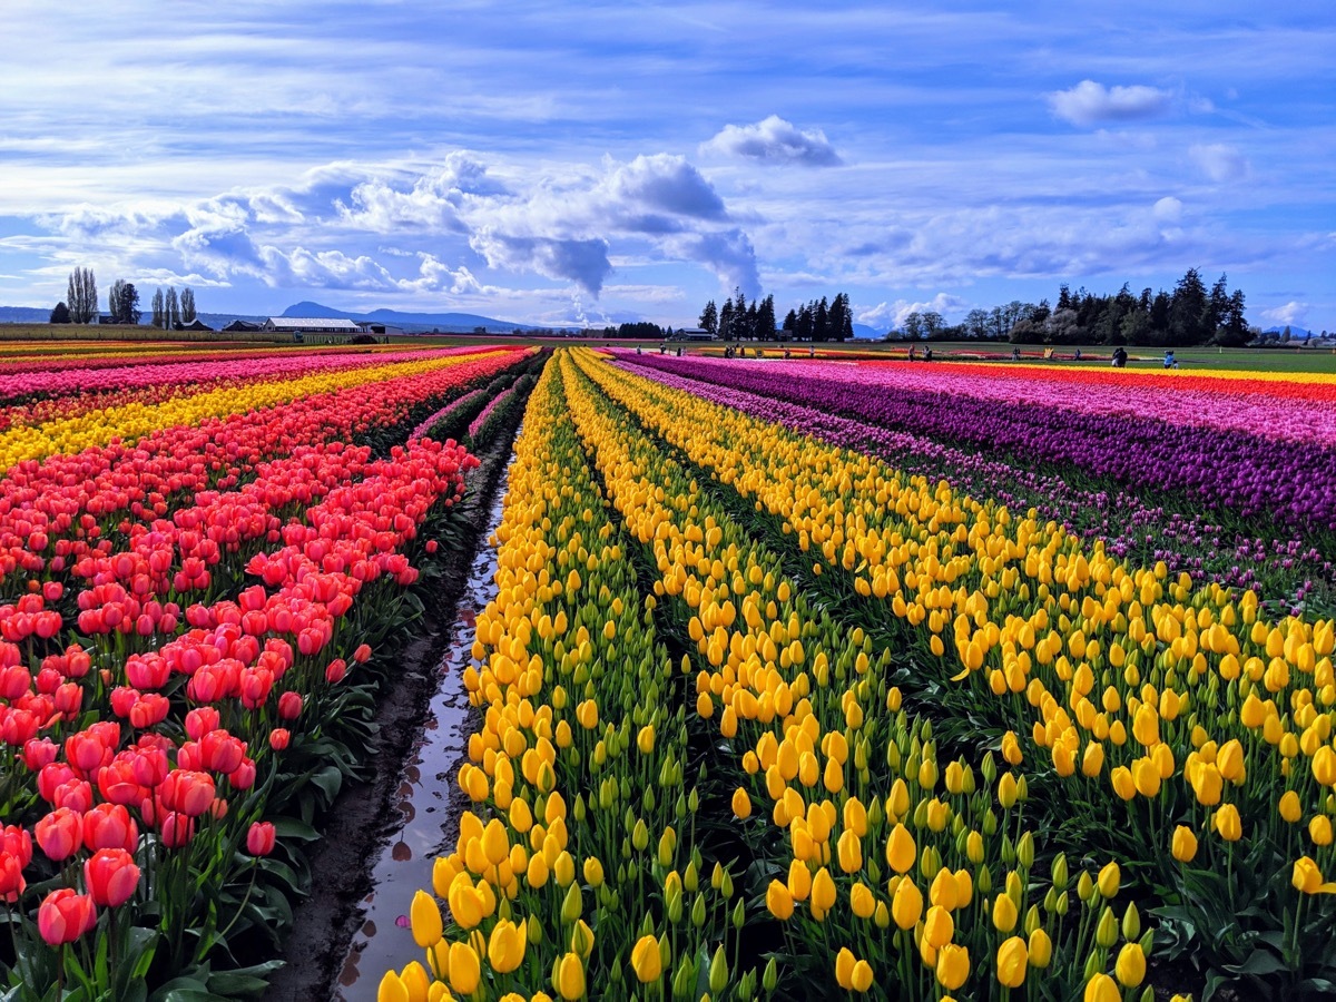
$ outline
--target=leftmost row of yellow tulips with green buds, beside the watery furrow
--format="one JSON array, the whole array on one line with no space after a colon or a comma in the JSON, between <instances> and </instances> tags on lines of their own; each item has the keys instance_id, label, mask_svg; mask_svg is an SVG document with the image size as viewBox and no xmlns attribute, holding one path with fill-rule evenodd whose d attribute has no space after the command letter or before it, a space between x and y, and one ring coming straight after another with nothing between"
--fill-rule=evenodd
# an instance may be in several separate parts
<instances>
[{"instance_id":1,"label":"leftmost row of yellow tulips with green buds, beside the watery furrow","mask_svg":"<svg viewBox=\"0 0 1336 1002\"><path fill-rule=\"evenodd\" d=\"M386 973L379 997L719 993L733 983L725 943L740 902L695 843L680 681L552 366L509 477L498 595L465 676L482 711L458 776L474 807L436 860L434 894L411 904L424 962Z\"/></svg>"}]
</instances>

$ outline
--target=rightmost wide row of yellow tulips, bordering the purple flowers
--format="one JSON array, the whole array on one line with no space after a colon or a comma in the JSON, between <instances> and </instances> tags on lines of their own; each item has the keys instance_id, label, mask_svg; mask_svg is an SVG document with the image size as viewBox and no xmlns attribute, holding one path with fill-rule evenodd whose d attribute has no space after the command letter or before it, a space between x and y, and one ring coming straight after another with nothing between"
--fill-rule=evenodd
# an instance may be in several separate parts
<instances>
[{"instance_id":1,"label":"rightmost wide row of yellow tulips, bordering the purple flowers","mask_svg":"<svg viewBox=\"0 0 1336 1002\"><path fill-rule=\"evenodd\" d=\"M1003 741L1007 760L1033 758L1074 810L1104 819L1110 843L1140 844L1129 862L1148 882L1192 898L1182 864L1233 879L1236 854L1261 860L1265 914L1250 919L1283 929L1272 953L1301 974L1303 898L1332 887L1323 874L1336 862L1331 620L1269 619L1249 592L1193 592L1162 566L1128 566L1033 513L582 365L664 442L780 524L815 557L814 580L834 572L884 637L916 651L919 668L1021 732ZM1307 907L1329 914L1327 900ZM1201 930L1196 947L1209 953L1209 939Z\"/></svg>"}]
</instances>

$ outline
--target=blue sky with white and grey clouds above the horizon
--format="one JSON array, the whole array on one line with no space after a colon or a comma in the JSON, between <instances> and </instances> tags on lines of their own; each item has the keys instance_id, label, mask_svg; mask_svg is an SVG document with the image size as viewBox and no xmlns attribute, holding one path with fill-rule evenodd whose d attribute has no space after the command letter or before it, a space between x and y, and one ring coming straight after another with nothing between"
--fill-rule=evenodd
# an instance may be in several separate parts
<instances>
[{"instance_id":1,"label":"blue sky with white and grey clouds above the horizon","mask_svg":"<svg viewBox=\"0 0 1336 1002\"><path fill-rule=\"evenodd\" d=\"M693 322L1228 273L1336 330L1325 3L9 0L0 303ZM147 295L144 297L147 299Z\"/></svg>"}]
</instances>

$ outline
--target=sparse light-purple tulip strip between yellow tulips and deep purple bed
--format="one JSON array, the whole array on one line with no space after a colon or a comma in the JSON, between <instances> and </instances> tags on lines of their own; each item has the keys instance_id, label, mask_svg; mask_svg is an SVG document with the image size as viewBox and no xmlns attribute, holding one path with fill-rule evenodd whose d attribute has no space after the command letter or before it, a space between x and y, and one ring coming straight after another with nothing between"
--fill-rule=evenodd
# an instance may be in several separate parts
<instances>
[{"instance_id":1,"label":"sparse light-purple tulip strip between yellow tulips and deep purple bed","mask_svg":"<svg viewBox=\"0 0 1336 1002\"><path fill-rule=\"evenodd\" d=\"M774 387L770 395L760 395L687 378L667 371L669 366L660 361L668 359L620 357L624 367L665 386L832 445L866 452L906 474L946 480L954 489L994 500L1013 512L1034 508L1043 521L1059 522L1088 540L1102 540L1117 557L1142 564L1164 560L1172 572L1186 570L1198 582L1253 588L1276 600L1303 600L1313 588L1313 577L1324 589L1329 587L1332 565L1299 538L1238 534L1200 516L1166 512L1125 490L1083 489L1051 473L1019 469L923 436L778 399L782 394ZM729 365L720 367L725 374L732 371Z\"/></svg>"}]
</instances>

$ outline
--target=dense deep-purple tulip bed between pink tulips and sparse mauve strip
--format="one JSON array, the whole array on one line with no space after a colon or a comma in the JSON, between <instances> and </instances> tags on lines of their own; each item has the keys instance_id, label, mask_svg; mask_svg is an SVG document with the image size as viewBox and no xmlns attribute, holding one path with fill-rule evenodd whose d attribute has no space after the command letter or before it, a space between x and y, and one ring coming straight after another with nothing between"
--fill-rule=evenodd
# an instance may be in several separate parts
<instances>
[{"instance_id":1,"label":"dense deep-purple tulip bed between pink tulips and sparse mauve strip","mask_svg":"<svg viewBox=\"0 0 1336 1002\"><path fill-rule=\"evenodd\" d=\"M1336 530L1336 450L1146 417L886 387L858 366L794 378L790 366L632 357L643 369L776 397L883 429L947 440L1021 461L1066 464L1136 490L1172 492L1244 518ZM623 357L623 361L632 361Z\"/></svg>"}]
</instances>

